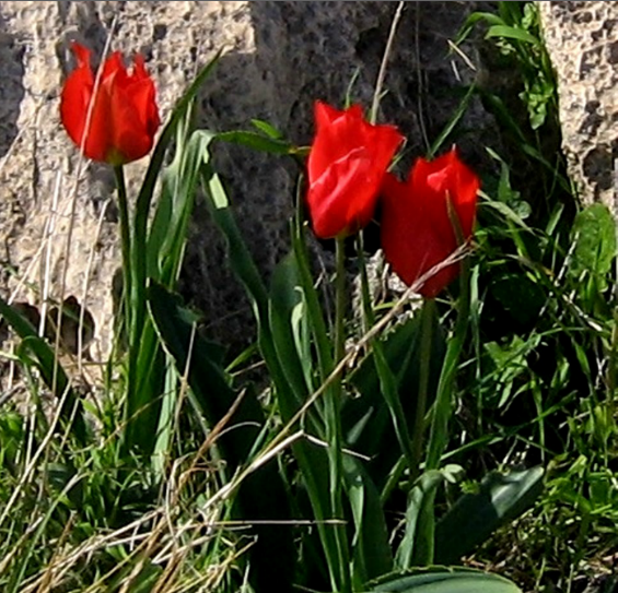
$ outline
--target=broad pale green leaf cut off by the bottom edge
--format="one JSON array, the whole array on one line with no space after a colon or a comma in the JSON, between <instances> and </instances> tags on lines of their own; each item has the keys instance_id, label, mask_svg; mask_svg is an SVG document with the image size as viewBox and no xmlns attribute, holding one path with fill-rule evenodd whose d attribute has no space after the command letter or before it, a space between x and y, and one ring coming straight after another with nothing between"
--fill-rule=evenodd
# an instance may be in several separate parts
<instances>
[{"instance_id":1,"label":"broad pale green leaf cut off by the bottom edge","mask_svg":"<svg viewBox=\"0 0 618 593\"><path fill-rule=\"evenodd\" d=\"M518 586L502 577L445 567L387 574L370 585L368 593L522 593Z\"/></svg>"}]
</instances>

